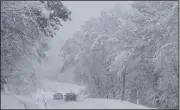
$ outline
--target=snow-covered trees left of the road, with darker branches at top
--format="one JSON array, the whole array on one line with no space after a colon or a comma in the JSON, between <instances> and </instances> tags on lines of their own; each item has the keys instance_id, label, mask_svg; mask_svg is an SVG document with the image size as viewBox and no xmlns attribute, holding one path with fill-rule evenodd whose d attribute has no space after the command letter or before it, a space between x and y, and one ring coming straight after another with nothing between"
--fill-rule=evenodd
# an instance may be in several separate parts
<instances>
[{"instance_id":1,"label":"snow-covered trees left of the road, with darker branches at top","mask_svg":"<svg viewBox=\"0 0 180 110\"><path fill-rule=\"evenodd\" d=\"M24 95L38 88L34 68L70 14L60 1L1 2L1 91Z\"/></svg>"}]
</instances>

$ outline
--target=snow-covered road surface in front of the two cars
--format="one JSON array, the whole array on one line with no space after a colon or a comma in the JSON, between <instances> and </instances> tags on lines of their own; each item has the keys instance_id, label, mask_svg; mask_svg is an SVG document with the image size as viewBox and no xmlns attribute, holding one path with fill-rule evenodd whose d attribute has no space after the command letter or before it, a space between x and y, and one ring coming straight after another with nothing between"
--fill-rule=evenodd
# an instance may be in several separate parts
<instances>
[{"instance_id":1,"label":"snow-covered road surface in front of the two cars","mask_svg":"<svg viewBox=\"0 0 180 110\"><path fill-rule=\"evenodd\" d=\"M142 105L122 102L114 99L86 98L77 102L64 102L62 100L49 100L48 105L57 109L150 109Z\"/></svg>"}]
</instances>

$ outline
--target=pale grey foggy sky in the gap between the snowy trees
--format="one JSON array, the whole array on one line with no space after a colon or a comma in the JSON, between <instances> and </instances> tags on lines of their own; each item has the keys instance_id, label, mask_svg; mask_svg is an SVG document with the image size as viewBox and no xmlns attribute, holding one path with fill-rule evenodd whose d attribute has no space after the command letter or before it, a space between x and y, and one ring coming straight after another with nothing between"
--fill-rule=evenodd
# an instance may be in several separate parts
<instances>
[{"instance_id":1,"label":"pale grey foggy sky in the gap between the snowy trees","mask_svg":"<svg viewBox=\"0 0 180 110\"><path fill-rule=\"evenodd\" d=\"M63 4L72 11L72 21L63 23L63 27L57 32L57 36L52 39L51 51L59 52L60 47L73 33L78 31L90 17L98 17L103 10L108 10L115 4L123 4L123 8L128 7L131 1L62 1ZM57 51L58 49L58 51ZM53 54L54 55L54 54Z\"/></svg>"}]
</instances>

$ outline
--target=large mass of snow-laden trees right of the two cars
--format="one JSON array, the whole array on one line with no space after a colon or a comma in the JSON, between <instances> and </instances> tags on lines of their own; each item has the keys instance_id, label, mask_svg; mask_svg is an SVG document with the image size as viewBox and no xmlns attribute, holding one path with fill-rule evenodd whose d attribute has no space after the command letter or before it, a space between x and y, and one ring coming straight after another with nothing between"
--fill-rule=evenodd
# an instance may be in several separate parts
<instances>
[{"instance_id":1,"label":"large mass of snow-laden trees right of the two cars","mask_svg":"<svg viewBox=\"0 0 180 110\"><path fill-rule=\"evenodd\" d=\"M178 2L136 1L89 19L61 49L90 97L178 108Z\"/></svg>"}]
</instances>

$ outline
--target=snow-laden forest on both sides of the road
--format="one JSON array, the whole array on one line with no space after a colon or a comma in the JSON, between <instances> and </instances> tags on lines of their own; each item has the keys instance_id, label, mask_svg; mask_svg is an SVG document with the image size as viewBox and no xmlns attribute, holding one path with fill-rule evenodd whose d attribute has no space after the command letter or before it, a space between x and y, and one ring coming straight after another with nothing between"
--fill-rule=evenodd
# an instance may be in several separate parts
<instances>
[{"instance_id":1,"label":"snow-laden forest on both sides of the road","mask_svg":"<svg viewBox=\"0 0 180 110\"><path fill-rule=\"evenodd\" d=\"M178 1L135 1L131 8L117 4L86 21L59 48L60 72L73 68L90 98L177 109ZM49 43L70 15L61 1L1 2L1 91L40 88L36 65L48 59Z\"/></svg>"}]
</instances>

